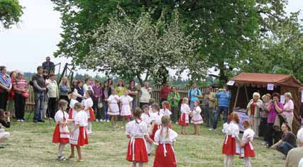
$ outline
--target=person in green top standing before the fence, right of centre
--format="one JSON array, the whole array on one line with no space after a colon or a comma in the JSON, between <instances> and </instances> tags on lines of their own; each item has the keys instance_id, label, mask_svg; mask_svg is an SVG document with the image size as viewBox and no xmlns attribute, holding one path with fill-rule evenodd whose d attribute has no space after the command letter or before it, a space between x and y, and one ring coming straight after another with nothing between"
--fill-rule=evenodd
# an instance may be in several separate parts
<instances>
[{"instance_id":1,"label":"person in green top standing before the fence, right of centre","mask_svg":"<svg viewBox=\"0 0 303 167\"><path fill-rule=\"evenodd\" d=\"M180 94L177 92L176 87L172 86L172 91L167 96L167 101L170 103L170 107L172 110L172 115L170 118L172 122L177 124L178 121L178 114L179 114L179 101L180 101Z\"/></svg>"}]
</instances>

